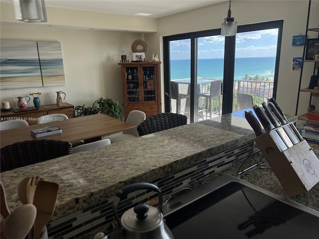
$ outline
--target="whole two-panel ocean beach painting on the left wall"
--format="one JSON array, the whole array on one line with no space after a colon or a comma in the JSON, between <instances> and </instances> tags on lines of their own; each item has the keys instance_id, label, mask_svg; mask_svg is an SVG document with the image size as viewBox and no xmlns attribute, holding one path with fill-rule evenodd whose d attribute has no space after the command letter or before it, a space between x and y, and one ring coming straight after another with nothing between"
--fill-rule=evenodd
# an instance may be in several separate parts
<instances>
[{"instance_id":1,"label":"whole two-panel ocean beach painting on the left wall","mask_svg":"<svg viewBox=\"0 0 319 239\"><path fill-rule=\"evenodd\" d=\"M60 42L1 40L0 89L65 85Z\"/></svg>"}]
</instances>

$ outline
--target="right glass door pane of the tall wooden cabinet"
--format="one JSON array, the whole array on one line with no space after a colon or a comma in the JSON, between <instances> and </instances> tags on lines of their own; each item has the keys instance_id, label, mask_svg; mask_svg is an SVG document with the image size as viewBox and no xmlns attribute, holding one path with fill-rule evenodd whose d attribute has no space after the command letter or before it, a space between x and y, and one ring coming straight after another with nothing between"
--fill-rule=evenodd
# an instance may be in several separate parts
<instances>
[{"instance_id":1,"label":"right glass door pane of the tall wooden cabinet","mask_svg":"<svg viewBox=\"0 0 319 239\"><path fill-rule=\"evenodd\" d=\"M143 97L144 102L156 101L155 66L143 66Z\"/></svg>"}]
</instances>

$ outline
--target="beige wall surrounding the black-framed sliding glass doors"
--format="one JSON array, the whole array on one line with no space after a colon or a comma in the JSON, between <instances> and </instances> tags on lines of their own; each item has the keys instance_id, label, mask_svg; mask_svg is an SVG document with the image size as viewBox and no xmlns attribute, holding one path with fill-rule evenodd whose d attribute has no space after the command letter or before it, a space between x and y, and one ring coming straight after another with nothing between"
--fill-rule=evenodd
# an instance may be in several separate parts
<instances>
[{"instance_id":1,"label":"beige wall surrounding the black-framed sliding glass doors","mask_svg":"<svg viewBox=\"0 0 319 239\"><path fill-rule=\"evenodd\" d=\"M223 19L227 16L227 10L228 2L222 2L159 18L158 31L145 34L145 40L155 43L152 44L151 52L161 52L160 59L162 59L162 36L220 28ZM292 36L305 34L308 1L235 0L231 2L231 11L232 17L235 18L238 25L284 19L277 101L285 113L295 114L300 71L292 70L292 58L301 57L303 47L293 47ZM313 0L310 27L318 27L318 12L319 1ZM318 33L309 32L308 36L314 38L318 36ZM313 63L306 64L303 74L303 88L308 87L314 67ZM309 97L309 93L301 94L300 114L307 112ZM317 108L319 108L319 104L317 104Z\"/></svg>"}]
</instances>

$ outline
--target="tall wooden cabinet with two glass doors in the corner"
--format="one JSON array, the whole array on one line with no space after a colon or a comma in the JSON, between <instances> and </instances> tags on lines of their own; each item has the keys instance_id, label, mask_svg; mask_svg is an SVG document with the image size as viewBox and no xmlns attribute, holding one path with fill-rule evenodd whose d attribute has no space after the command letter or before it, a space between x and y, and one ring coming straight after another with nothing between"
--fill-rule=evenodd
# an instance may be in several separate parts
<instances>
[{"instance_id":1,"label":"tall wooden cabinet with two glass doors in the corner","mask_svg":"<svg viewBox=\"0 0 319 239\"><path fill-rule=\"evenodd\" d=\"M125 119L133 110L143 111L146 117L161 113L160 62L119 63Z\"/></svg>"}]
</instances>

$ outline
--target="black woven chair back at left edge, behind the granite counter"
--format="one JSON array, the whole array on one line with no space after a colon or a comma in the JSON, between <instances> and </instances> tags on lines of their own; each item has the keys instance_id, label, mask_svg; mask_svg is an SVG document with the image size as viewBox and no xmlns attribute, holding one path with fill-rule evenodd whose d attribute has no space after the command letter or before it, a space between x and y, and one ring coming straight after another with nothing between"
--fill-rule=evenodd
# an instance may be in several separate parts
<instances>
[{"instance_id":1,"label":"black woven chair back at left edge, behind the granite counter","mask_svg":"<svg viewBox=\"0 0 319 239\"><path fill-rule=\"evenodd\" d=\"M0 171L46 161L72 154L72 143L61 140L28 140L6 145L0 149Z\"/></svg>"}]
</instances>

